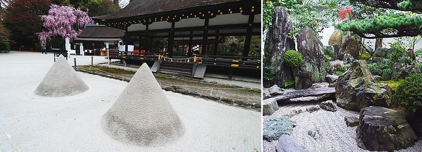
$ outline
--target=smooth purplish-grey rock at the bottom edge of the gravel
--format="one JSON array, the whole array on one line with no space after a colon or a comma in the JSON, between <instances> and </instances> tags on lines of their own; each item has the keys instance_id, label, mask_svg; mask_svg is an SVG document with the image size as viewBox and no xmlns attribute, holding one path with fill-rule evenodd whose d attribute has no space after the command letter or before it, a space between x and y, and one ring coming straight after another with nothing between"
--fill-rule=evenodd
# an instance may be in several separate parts
<instances>
[{"instance_id":1,"label":"smooth purplish-grey rock at the bottom edge of the gravel","mask_svg":"<svg viewBox=\"0 0 422 152\"><path fill-rule=\"evenodd\" d=\"M298 144L290 135L282 135L278 138L278 143L275 145L276 152L307 152L308 150Z\"/></svg>"}]
</instances>

